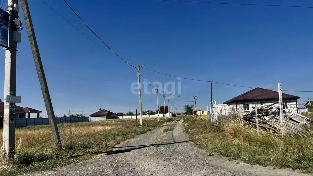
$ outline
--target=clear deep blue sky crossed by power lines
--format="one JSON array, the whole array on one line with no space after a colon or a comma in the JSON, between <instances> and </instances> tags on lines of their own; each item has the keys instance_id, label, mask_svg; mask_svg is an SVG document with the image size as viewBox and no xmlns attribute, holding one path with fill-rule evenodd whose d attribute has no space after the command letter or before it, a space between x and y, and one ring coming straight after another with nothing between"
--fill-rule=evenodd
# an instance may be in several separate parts
<instances>
[{"instance_id":1,"label":"clear deep blue sky crossed by power lines","mask_svg":"<svg viewBox=\"0 0 313 176\"><path fill-rule=\"evenodd\" d=\"M109 49L63 0L44 1L96 43L86 39L40 0L28 2L55 114L60 116L71 110L89 115L99 108L135 111L139 107L138 95L131 93L131 84L137 81L136 70L111 58L107 54ZM309 0L214 2L313 6ZM236 85L277 89L277 83L281 82L283 90L312 90L313 9L157 0L95 0L93 3L68 0L68 3L101 39L132 65ZM22 18L22 13L20 16ZM22 31L18 50L16 94L22 96L22 103L18 105L44 111L26 29ZM4 51L2 57L0 71L4 75ZM145 69L141 73L148 81L160 81L163 85L178 81ZM3 92L3 82L4 76L0 77L0 92ZM197 95L197 109L205 109L210 101L209 83L181 82L180 96ZM249 90L213 83L213 99L223 103ZM313 93L290 94L303 97L300 102L313 99ZM192 98L175 99L192 101ZM156 96L143 94L142 104L144 110L155 110ZM163 105L161 96L160 105ZM42 116L47 115L44 112Z\"/></svg>"}]
</instances>

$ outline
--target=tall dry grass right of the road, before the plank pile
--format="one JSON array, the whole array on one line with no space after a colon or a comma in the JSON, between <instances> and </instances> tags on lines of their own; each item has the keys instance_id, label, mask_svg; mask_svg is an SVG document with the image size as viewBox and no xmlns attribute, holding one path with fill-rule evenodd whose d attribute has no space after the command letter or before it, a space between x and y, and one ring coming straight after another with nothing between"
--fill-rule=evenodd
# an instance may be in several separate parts
<instances>
[{"instance_id":1,"label":"tall dry grass right of the road, before the plank pile","mask_svg":"<svg viewBox=\"0 0 313 176\"><path fill-rule=\"evenodd\" d=\"M313 173L313 136L285 136L248 129L229 122L223 129L204 120L185 119L185 131L211 154L264 166L276 165Z\"/></svg>"}]
</instances>

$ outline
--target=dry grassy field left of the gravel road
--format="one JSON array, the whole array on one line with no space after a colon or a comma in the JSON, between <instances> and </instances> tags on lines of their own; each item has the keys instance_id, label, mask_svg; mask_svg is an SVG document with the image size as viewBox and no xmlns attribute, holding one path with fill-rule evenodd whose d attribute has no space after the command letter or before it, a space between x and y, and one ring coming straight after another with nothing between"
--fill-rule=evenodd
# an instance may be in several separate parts
<instances>
[{"instance_id":1,"label":"dry grassy field left of the gravel road","mask_svg":"<svg viewBox=\"0 0 313 176\"><path fill-rule=\"evenodd\" d=\"M144 127L136 127L135 119L59 124L62 150L55 147L48 125L17 128L16 160L8 164L3 155L0 155L0 175L42 171L77 163L169 120L160 118L158 123L154 118L144 119ZM3 140L2 131L0 140Z\"/></svg>"}]
</instances>

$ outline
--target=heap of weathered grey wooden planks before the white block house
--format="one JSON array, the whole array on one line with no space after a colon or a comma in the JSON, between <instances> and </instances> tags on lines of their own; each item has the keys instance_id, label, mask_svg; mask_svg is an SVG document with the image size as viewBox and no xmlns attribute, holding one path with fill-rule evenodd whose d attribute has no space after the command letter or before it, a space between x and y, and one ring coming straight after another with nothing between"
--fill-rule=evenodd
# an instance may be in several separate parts
<instances>
[{"instance_id":1,"label":"heap of weathered grey wooden planks before the white block house","mask_svg":"<svg viewBox=\"0 0 313 176\"><path fill-rule=\"evenodd\" d=\"M257 109L259 130L271 131L274 133L281 133L280 124L280 109L273 107L276 103L273 103L267 107ZM244 120L248 123L249 127L257 128L255 108L248 114L244 115ZM302 116L295 112L283 111L283 127L284 132L289 134L301 134L303 132L312 131L305 129L304 127L310 127L313 125L313 118Z\"/></svg>"}]
</instances>

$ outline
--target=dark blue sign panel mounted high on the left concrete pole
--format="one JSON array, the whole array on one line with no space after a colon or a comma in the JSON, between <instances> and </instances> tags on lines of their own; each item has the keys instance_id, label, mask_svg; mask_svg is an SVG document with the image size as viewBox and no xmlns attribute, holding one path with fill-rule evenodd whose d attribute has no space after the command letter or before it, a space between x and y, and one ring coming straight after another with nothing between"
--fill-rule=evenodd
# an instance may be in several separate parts
<instances>
[{"instance_id":1,"label":"dark blue sign panel mounted high on the left concrete pole","mask_svg":"<svg viewBox=\"0 0 313 176\"><path fill-rule=\"evenodd\" d=\"M0 46L8 48L9 40L9 14L0 9Z\"/></svg>"}]
</instances>

